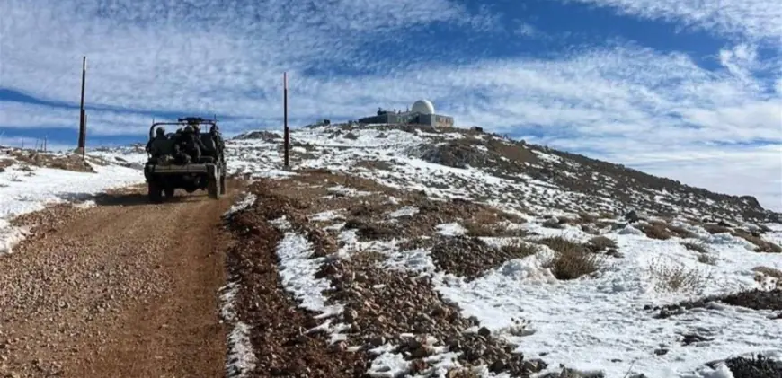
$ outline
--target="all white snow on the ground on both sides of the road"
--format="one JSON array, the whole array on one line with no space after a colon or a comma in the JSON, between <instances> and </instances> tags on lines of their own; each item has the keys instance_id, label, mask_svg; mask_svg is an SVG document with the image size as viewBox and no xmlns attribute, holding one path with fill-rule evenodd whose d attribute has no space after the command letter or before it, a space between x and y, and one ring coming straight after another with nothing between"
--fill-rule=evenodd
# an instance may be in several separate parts
<instances>
[{"instance_id":1,"label":"all white snow on the ground on both sides of the road","mask_svg":"<svg viewBox=\"0 0 782 378\"><path fill-rule=\"evenodd\" d=\"M601 208L587 208L584 195L557 187L543 180L529 177L523 180L499 178L491 173L467 167L458 169L428 163L416 157L416 147L428 143L425 133L408 133L400 130L362 130L333 136L325 128L297 130L292 140L301 146L295 147L293 165L295 168L326 168L348 172L362 178L377 180L387 186L401 189L421 190L431 198L472 198L484 204L502 208L509 213L522 215L530 222L520 228L541 236L564 236L583 241L590 237L581 229L566 226L563 229L542 227L545 216L574 215L576 209L595 213L613 207L610 198L602 198ZM440 135L443 139L458 139L458 133ZM276 142L259 139L234 140L228 145L228 166L232 172L248 173L252 177L287 177L292 172L281 170L282 157ZM107 160L119 155L127 162L142 162L143 154L123 152L101 153ZM560 162L555 155L536 151L546 162ZM137 159L138 158L138 159ZM360 162L372 162L378 167L368 167ZM390 168L380 167L387 164ZM141 171L119 166L94 166L97 174L33 169L20 171L12 166L0 172L0 252L10 251L13 242L23 236L24 231L9 227L7 221L13 216L39 210L46 203L75 198L89 198L112 187L142 182ZM607 180L607 185L610 180ZM369 192L348 187L333 187L331 190L342 196L362 196ZM638 193L637 196L645 194ZM673 196L671 193L653 193L659 202ZM248 197L240 207L252 203ZM555 203L569 202L573 211L556 210ZM312 220L324 221L336 215L336 210L314 216ZM689 214L682 209L683 214ZM386 215L388 222L397 218L415 216L417 209L398 207ZM287 230L284 223L277 224ZM597 277L570 281L559 281L551 271L543 268L543 260L552 253L543 248L535 255L524 259L513 259L501 267L484 272L483 277L466 282L461 277L438 271L431 262L430 251L423 248L414 251L400 251L398 243L358 242L354 230L343 229L344 223L335 223L328 228L341 231L344 246L338 253L343 259L350 259L351 251L372 249L387 256L388 268L408 269L430 275L436 290L445 299L457 303L464 316L475 316L482 325L495 334L502 335L517 345L517 350L530 358L539 357L549 365L563 364L569 368L600 370L607 377L624 377L627 372L643 373L650 378L662 377L729 377L729 373L717 373L705 366L707 362L722 360L745 353L766 353L782 358L782 321L769 319L769 312L752 311L728 305L712 305L695 309L669 319L654 319L653 312L644 310L645 305L677 303L695 299L706 294L732 293L748 288L760 287L754 279L752 268L768 267L782 270L782 254L751 251L751 244L729 233L710 234L692 226L696 237L692 240L671 238L653 240L628 226L618 230L603 230L601 234L618 244L618 251L624 257L611 260L611 264ZM768 224L771 232L763 235L768 242L782 242L782 225ZM440 224L438 232L445 236L456 236L466 232L463 224L448 222ZM494 241L496 242L496 241ZM698 254L687 250L682 242L700 242L711 260L706 264ZM301 235L287 232L280 243L280 272L290 293L294 294L308 310L324 313L324 317L341 312L337 306L324 304L323 290L327 284L315 278L315 271L322 263L310 259L310 247ZM664 292L659 289L653 274L655 267L673 266L695 271L704 277L703 286L693 292ZM230 302L230 294L226 297ZM228 304L227 304L228 305ZM226 310L227 313L230 310ZM511 319L529 321L524 336L513 330ZM324 323L333 334L338 335L342 324ZM236 356L249 352L241 349L246 344L250 330L235 325L234 345ZM704 338L691 345L682 345L684 335L695 334ZM514 336L516 335L516 336ZM241 350L240 350L241 349ZM381 348L382 349L382 348ZM665 350L665 353L655 353ZM404 367L401 356L378 349L376 361L379 369L386 365L386 373L393 374L395 368ZM443 351L437 364L455 365L452 354ZM247 362L252 365L252 361ZM237 367L243 369L241 367ZM489 376L484 369L484 376Z\"/></svg>"}]
</instances>

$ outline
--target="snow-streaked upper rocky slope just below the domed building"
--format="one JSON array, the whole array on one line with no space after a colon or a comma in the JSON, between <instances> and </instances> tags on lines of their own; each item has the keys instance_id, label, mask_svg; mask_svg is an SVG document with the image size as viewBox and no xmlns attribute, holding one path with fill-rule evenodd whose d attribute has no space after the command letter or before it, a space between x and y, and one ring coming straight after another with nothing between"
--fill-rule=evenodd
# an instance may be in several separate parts
<instances>
[{"instance_id":1,"label":"snow-streaked upper rocky slope just below the domed building","mask_svg":"<svg viewBox=\"0 0 782 378\"><path fill-rule=\"evenodd\" d=\"M253 159L246 141L260 139L281 149L281 133L256 131L236 137L239 156ZM321 143L322 142L322 143ZM251 143L252 144L252 143ZM524 210L568 213L626 214L630 211L693 222L779 222L756 198L737 197L694 188L623 165L601 162L546 146L530 145L463 129L337 125L294 131L294 163L332 167L362 174L380 170L387 183L410 184L400 174L421 163L454 168L439 176L414 177L434 194L454 184L465 198L502 200ZM266 148L266 147L264 147ZM338 166L336 164L339 164ZM417 171L427 171L417 167ZM367 176L367 174L363 174Z\"/></svg>"}]
</instances>

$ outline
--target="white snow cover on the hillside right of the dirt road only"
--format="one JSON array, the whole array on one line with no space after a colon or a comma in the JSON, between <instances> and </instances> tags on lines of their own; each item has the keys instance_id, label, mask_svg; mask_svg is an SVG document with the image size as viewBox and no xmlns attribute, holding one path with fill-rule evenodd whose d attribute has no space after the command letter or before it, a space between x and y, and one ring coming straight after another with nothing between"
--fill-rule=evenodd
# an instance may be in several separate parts
<instances>
[{"instance_id":1,"label":"white snow cover on the hillside right of the dirt road only","mask_svg":"<svg viewBox=\"0 0 782 378\"><path fill-rule=\"evenodd\" d=\"M730 376L724 366L715 370L705 364L742 354L782 357L782 321L772 319L778 316L774 311L711 303L670 319L653 316L656 306L663 304L776 285L776 278L760 277L756 269L782 270L782 254L759 253L755 251L757 245L738 236L738 231L709 232L705 228L708 224L699 223L707 218L747 230L763 228L766 232L760 242L778 246L782 224L768 223L778 215L751 205L751 198L717 195L670 180L653 181L637 172L621 177L607 169L590 171L596 163L577 161L573 155L537 146L520 147L537 157L534 163L523 163L533 169L498 170L502 163L481 162L481 157L475 156L475 151L489 155L488 148L481 149L480 141L490 138L493 136L394 127L316 127L291 134L291 162L295 170L341 171L393 188L420 190L430 198L468 198L500 208L528 221L514 225L532 235L521 238L526 242L555 236L587 242L595 234L616 242L621 259L611 260L596 277L575 280L554 277L545 261L555 251L547 247L524 259L504 261L468 282L438 268L431 248L400 250L404 240L370 244L354 241L341 249L346 259L350 259L351 251L382 251L388 257L388 267L429 275L436 290L445 300L456 303L464 316L475 316L482 327L516 344L517 352L539 357L555 370L562 364L608 377L624 377L628 372L649 377ZM445 154L435 148L437 145L454 145L453 141L465 139L470 139L471 147L453 154L467 162L463 168L432 163ZM290 176L280 171L280 133L250 133L228 145L229 164L237 173L255 178ZM440 156L432 158L432 154ZM542 170L551 172L535 174ZM564 184L569 176L575 181L594 180L577 190L573 184ZM653 189L646 184L659 187ZM626 196L616 197L610 187L626 191ZM642 231L649 223L630 224L622 216L630 209L650 215L649 221L683 229L680 233L686 235L651 238ZM400 206L389 216L414 217L416 212L415 208ZM545 226L551 219L573 219L584 213L595 220L590 224ZM324 220L339 214L342 216L324 229L338 230L340 240L350 241L356 230L345 227L344 209L342 213L336 208L309 216L311 220ZM440 224L439 229L449 235L465 230L458 222ZM499 246L514 238L482 239ZM690 251L686 243L703 246L705 251ZM675 272L689 277L689 287L664 288ZM322 298L317 299L321 294L297 295L305 305L315 300L323 303ZM514 319L520 318L529 322L521 333L514 328ZM703 339L690 343L691 338ZM378 356L374 371L377 376L391 376L387 374L404 371L409 364L401 355L388 352ZM484 369L483 374L488 375L486 372Z\"/></svg>"}]
</instances>

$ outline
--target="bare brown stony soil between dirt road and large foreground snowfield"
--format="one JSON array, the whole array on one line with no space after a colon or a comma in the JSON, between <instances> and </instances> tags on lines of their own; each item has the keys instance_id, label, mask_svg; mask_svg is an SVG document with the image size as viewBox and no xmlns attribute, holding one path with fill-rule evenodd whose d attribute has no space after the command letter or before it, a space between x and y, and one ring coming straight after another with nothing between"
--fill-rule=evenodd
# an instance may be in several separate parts
<instances>
[{"instance_id":1,"label":"bare brown stony soil between dirt road and large foreground snowfield","mask_svg":"<svg viewBox=\"0 0 782 378\"><path fill-rule=\"evenodd\" d=\"M407 353L405 356L411 363L408 373L425 375L428 374L426 372L431 373L432 366L423 359L431 354L429 347L422 346L420 342L423 335L437 338L437 345L464 352L458 358L463 364L487 363L493 372L509 372L525 377L546 367L540 361L511 353L513 347L500 338L491 337L486 329L479 331L479 334L464 333L467 327L476 325L477 321L463 318L456 306L443 301L428 278L419 279L412 273L387 271L381 264L384 258L376 252L355 251L351 259L333 259L332 254L336 249L333 236L319 232L315 224L307 221L305 214L345 208L346 215L350 216L348 224L351 221L357 223L367 220L371 226L369 228L375 230L373 227L382 224L378 211L382 215L384 211L403 204L427 207L421 206L421 199L416 199L414 194L403 192L395 192L396 198L403 199L391 207L370 199L372 196L336 198L339 203L335 204L334 200L324 201L319 198L324 195L320 191L323 188L308 187L316 182L324 183L325 180L328 180L326 187L344 182L343 185L353 189L391 190L362 180L345 182L339 175L326 172L287 180L259 180L251 187L258 197L256 204L235 215L231 222L237 239L243 241L235 245L228 257L229 266L233 267L232 276L239 278L242 287L236 303L239 306L239 318L252 327L251 340L258 360L250 376L367 376L365 372L373 358L369 349L387 341L401 344L396 351ZM302 190L312 190L315 195L302 196ZM445 203L441 207L429 205L429 210L422 211L433 213L435 208L439 208L446 213L458 213L461 208L458 205L458 201L456 204ZM283 215L289 221L291 230L304 235L313 244L313 258L325 258L316 277L331 281L333 288L324 292L328 298L327 304L344 305L345 311L336 315L333 321L351 326L345 332L347 342L328 346L323 334L303 334L323 320L315 321L315 314L295 309L297 302L281 294L284 290L279 286L274 249L282 234L269 221ZM403 221L399 219L398 222ZM364 236L377 240L384 235ZM259 301L257 298L264 299ZM275 321L280 317L287 321ZM416 338L402 336L410 332ZM349 352L349 346L359 349ZM454 374L455 371L448 375L458 376Z\"/></svg>"}]
</instances>

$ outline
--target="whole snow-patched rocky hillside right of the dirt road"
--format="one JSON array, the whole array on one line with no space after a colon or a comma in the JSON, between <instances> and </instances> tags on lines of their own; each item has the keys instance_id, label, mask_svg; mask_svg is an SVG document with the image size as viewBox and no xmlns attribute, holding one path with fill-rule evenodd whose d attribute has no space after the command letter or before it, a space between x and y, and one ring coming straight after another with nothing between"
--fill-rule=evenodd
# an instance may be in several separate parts
<instances>
[{"instance_id":1,"label":"whole snow-patched rocky hillside right of the dirt road","mask_svg":"<svg viewBox=\"0 0 782 378\"><path fill-rule=\"evenodd\" d=\"M752 198L466 130L291 145L227 141L228 376L782 374L782 224Z\"/></svg>"}]
</instances>

